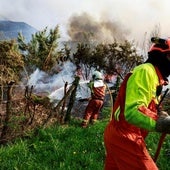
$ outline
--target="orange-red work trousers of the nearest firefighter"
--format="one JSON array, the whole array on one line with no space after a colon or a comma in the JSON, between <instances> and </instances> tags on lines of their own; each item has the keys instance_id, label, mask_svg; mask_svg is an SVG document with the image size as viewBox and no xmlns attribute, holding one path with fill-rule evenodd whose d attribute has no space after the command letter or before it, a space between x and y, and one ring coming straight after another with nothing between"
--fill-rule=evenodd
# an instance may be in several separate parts
<instances>
[{"instance_id":1,"label":"orange-red work trousers of the nearest firefighter","mask_svg":"<svg viewBox=\"0 0 170 170\"><path fill-rule=\"evenodd\" d=\"M158 170L139 130L112 120L104 132L105 170Z\"/></svg>"}]
</instances>

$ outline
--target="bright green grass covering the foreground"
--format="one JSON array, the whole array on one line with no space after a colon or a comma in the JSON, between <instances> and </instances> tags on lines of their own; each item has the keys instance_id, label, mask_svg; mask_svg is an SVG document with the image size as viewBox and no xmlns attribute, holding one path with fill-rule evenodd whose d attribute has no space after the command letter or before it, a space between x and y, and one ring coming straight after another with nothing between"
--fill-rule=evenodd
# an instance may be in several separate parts
<instances>
[{"instance_id":1,"label":"bright green grass covering the foreground","mask_svg":"<svg viewBox=\"0 0 170 170\"><path fill-rule=\"evenodd\" d=\"M86 129L80 120L69 125L41 129L30 139L17 139L1 146L1 170L103 170L105 149L103 131L108 119L100 120ZM153 156L159 135L150 134L146 141ZM170 138L167 135L157 165L160 170L170 167Z\"/></svg>"}]
</instances>

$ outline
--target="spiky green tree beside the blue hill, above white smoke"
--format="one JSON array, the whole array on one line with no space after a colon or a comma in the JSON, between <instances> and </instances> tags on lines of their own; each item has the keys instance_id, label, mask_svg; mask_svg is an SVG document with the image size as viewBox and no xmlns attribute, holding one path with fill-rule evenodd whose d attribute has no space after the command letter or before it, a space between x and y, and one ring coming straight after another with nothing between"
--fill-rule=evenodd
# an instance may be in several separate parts
<instances>
[{"instance_id":1,"label":"spiky green tree beside the blue hill, above white smoke","mask_svg":"<svg viewBox=\"0 0 170 170\"><path fill-rule=\"evenodd\" d=\"M29 43L26 43L22 34L18 36L18 45L21 50L26 68L29 72L33 72L36 68L42 71L50 72L56 61L63 55L62 51L57 51L59 27L50 29L47 27L32 35Z\"/></svg>"}]
</instances>

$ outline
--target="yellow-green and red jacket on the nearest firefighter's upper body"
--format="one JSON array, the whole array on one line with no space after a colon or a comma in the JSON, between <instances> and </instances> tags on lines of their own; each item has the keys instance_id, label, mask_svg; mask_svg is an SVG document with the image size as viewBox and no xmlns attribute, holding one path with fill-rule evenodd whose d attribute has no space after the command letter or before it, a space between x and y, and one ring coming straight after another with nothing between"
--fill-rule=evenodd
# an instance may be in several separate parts
<instances>
[{"instance_id":1,"label":"yellow-green and red jacket on the nearest firefighter's upper body","mask_svg":"<svg viewBox=\"0 0 170 170\"><path fill-rule=\"evenodd\" d=\"M137 66L122 83L113 107L113 118L154 131L160 88L167 85L159 70L150 63ZM123 115L123 116L122 116Z\"/></svg>"}]
</instances>

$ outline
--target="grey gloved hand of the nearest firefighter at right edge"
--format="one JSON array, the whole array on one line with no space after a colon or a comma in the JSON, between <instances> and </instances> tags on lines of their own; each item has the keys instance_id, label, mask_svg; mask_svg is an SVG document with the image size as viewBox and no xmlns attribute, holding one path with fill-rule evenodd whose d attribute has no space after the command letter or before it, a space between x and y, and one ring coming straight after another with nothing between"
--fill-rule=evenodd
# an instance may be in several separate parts
<instances>
[{"instance_id":1,"label":"grey gloved hand of the nearest firefighter at right edge","mask_svg":"<svg viewBox=\"0 0 170 170\"><path fill-rule=\"evenodd\" d=\"M170 116L165 111L160 111L156 122L156 131L170 134Z\"/></svg>"}]
</instances>

